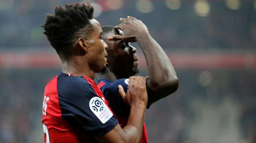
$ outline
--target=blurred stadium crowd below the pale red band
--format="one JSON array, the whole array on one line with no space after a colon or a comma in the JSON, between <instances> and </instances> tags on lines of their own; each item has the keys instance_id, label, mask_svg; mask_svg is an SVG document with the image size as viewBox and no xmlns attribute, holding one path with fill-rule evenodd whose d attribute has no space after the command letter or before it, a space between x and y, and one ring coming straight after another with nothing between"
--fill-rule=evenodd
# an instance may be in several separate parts
<instances>
[{"instance_id":1,"label":"blurred stadium crowd below the pale red band","mask_svg":"<svg viewBox=\"0 0 256 143\"><path fill-rule=\"evenodd\" d=\"M0 143L41 143L43 87L58 70L0 72ZM213 82L203 87L198 82L200 72L177 70L179 90L147 110L149 141L252 143L253 138L255 141L255 73L213 70L210 71ZM145 74L145 70L141 73Z\"/></svg>"}]
</instances>

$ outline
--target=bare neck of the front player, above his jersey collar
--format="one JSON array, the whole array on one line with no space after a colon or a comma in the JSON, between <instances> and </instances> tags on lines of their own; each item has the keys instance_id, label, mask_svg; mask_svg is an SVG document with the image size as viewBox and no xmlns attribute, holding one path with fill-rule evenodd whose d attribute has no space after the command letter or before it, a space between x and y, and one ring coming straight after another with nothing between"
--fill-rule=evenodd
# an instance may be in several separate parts
<instances>
[{"instance_id":1,"label":"bare neck of the front player, above his jersey collar","mask_svg":"<svg viewBox=\"0 0 256 143\"><path fill-rule=\"evenodd\" d=\"M62 72L73 74L74 76L87 76L94 79L95 73L89 68L88 63L84 59L69 59L62 62Z\"/></svg>"}]
</instances>

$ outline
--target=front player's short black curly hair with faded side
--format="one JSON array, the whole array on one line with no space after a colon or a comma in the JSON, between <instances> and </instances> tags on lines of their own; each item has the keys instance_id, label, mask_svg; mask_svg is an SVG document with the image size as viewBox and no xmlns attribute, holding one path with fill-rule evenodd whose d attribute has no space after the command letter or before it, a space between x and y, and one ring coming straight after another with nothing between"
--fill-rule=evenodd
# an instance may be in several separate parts
<instances>
[{"instance_id":1,"label":"front player's short black curly hair with faded side","mask_svg":"<svg viewBox=\"0 0 256 143\"><path fill-rule=\"evenodd\" d=\"M56 6L55 15L47 15L42 27L50 44L56 50L61 60L67 60L74 52L74 42L86 38L93 31L89 22L93 19L91 4L71 3L65 7Z\"/></svg>"}]
</instances>

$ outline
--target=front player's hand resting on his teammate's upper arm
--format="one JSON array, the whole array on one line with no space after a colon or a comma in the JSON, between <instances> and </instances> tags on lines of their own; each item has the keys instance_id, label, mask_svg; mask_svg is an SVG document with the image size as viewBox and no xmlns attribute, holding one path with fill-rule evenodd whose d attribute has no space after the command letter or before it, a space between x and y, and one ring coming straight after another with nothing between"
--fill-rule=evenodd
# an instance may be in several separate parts
<instances>
[{"instance_id":1,"label":"front player's hand resting on his teammate's upper arm","mask_svg":"<svg viewBox=\"0 0 256 143\"><path fill-rule=\"evenodd\" d=\"M148 104L148 94L146 89L146 81L148 77L143 78L141 76L131 76L129 78L128 90L125 94L124 89L119 85L119 94L124 99L126 104L132 106L146 107Z\"/></svg>"}]
</instances>

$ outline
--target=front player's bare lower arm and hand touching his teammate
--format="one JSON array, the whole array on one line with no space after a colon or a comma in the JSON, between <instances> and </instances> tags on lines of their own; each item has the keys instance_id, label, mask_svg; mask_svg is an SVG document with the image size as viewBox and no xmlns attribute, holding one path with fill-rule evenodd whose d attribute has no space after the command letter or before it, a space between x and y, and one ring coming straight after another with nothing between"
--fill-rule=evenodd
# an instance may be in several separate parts
<instances>
[{"instance_id":1,"label":"front player's bare lower arm and hand touching his teammate","mask_svg":"<svg viewBox=\"0 0 256 143\"><path fill-rule=\"evenodd\" d=\"M130 115L127 125L121 128L117 124L111 131L101 137L96 137L100 143L140 143L142 137L145 108L148 103L146 78L137 76L129 78L127 94L122 86L119 93L124 101L130 105Z\"/></svg>"}]
</instances>

